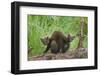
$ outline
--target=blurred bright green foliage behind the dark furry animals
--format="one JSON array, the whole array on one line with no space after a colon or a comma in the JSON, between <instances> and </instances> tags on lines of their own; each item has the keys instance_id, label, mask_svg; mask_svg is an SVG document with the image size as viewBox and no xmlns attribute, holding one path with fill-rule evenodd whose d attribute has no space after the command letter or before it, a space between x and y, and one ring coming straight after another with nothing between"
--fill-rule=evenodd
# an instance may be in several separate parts
<instances>
[{"instance_id":1,"label":"blurred bright green foliage behind the dark furry animals","mask_svg":"<svg viewBox=\"0 0 100 76\"><path fill-rule=\"evenodd\" d=\"M87 47L87 25L88 18L84 18L84 47ZM71 34L76 36L80 32L80 20L78 16L42 16L42 15L28 15L28 48L32 48L32 55L40 55L43 53L46 46L44 46L40 38L51 36L54 31L61 31L66 36ZM71 42L70 49L75 49L78 44L78 37Z\"/></svg>"}]
</instances>

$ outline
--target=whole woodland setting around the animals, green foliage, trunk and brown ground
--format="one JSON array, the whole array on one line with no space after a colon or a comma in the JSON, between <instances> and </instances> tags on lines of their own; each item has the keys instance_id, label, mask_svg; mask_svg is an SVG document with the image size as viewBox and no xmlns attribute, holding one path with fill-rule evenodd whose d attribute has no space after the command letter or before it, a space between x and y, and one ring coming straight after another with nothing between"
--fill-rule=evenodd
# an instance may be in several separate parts
<instances>
[{"instance_id":1,"label":"whole woodland setting around the animals, green foliage, trunk and brown ground","mask_svg":"<svg viewBox=\"0 0 100 76\"><path fill-rule=\"evenodd\" d=\"M28 15L27 18L29 60L87 58L87 17ZM71 42L71 46L65 54L54 56L48 53L42 56L46 46L40 39L50 37L54 31L61 31L64 35L71 34L75 36L75 39Z\"/></svg>"}]
</instances>

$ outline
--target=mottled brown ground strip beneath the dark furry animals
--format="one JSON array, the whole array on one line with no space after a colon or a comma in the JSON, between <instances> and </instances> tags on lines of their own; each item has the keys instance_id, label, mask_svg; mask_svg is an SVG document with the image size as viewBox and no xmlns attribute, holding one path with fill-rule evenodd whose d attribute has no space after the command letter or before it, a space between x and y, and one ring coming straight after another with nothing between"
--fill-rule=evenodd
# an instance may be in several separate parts
<instances>
[{"instance_id":1,"label":"mottled brown ground strip beneath the dark furry animals","mask_svg":"<svg viewBox=\"0 0 100 76\"><path fill-rule=\"evenodd\" d=\"M51 54L46 53L45 55L28 57L28 61L34 60L58 60L58 59L82 59L88 58L87 48L78 48L75 50L69 50L66 53Z\"/></svg>"}]
</instances>

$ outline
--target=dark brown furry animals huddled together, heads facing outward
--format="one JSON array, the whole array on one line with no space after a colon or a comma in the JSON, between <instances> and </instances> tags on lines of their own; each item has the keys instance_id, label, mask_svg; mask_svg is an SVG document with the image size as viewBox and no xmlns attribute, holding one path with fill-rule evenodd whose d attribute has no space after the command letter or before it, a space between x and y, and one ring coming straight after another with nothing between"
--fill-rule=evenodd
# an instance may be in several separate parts
<instances>
[{"instance_id":1,"label":"dark brown furry animals huddled together, heads facing outward","mask_svg":"<svg viewBox=\"0 0 100 76\"><path fill-rule=\"evenodd\" d=\"M74 39L74 36L71 36L70 34L64 36L64 34L60 31L55 31L51 38L45 37L41 38L41 41L44 45L47 45L44 54L48 52L50 49L51 53L57 54L59 52L65 53L69 47L70 42Z\"/></svg>"}]
</instances>

